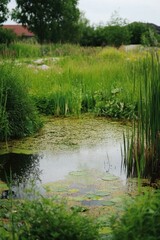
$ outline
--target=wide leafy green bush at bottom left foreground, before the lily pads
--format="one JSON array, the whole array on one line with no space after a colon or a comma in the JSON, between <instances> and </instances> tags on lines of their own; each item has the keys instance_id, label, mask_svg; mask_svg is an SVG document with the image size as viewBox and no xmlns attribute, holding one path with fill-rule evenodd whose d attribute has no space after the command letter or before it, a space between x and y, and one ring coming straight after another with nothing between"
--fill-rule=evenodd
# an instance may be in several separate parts
<instances>
[{"instance_id":1,"label":"wide leafy green bush at bottom left foreground, before the lily pads","mask_svg":"<svg viewBox=\"0 0 160 240\"><path fill-rule=\"evenodd\" d=\"M68 209L65 204L56 203L53 199L26 200L20 203L16 214L12 214L11 219L12 224L14 222L14 231L12 229L10 234L14 236L14 239L99 239L98 225L92 219L80 215L76 210Z\"/></svg>"}]
</instances>

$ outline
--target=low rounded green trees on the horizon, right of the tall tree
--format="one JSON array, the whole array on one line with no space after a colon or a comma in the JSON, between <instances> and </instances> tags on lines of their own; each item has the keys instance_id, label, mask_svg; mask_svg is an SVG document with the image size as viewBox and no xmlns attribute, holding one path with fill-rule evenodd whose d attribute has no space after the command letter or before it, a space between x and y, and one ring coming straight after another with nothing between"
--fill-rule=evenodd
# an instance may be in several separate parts
<instances>
[{"instance_id":1,"label":"low rounded green trees on the horizon, right of the tall tree","mask_svg":"<svg viewBox=\"0 0 160 240\"><path fill-rule=\"evenodd\" d=\"M160 36L156 29L145 23L133 22L126 25L106 25L83 27L80 44L82 46L115 46L143 44L157 46Z\"/></svg>"}]
</instances>

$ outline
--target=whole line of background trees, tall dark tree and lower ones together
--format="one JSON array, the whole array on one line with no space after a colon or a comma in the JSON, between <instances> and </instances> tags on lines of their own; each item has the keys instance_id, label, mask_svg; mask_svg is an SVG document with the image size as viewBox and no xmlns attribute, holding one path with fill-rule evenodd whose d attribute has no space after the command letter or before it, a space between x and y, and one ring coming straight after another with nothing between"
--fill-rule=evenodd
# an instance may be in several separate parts
<instances>
[{"instance_id":1,"label":"whole line of background trees, tall dark tree and lower ones together","mask_svg":"<svg viewBox=\"0 0 160 240\"><path fill-rule=\"evenodd\" d=\"M128 23L114 12L108 23L90 25L78 7L78 0L39 1L16 0L16 7L9 11L8 3L0 4L0 24L10 16L12 20L27 26L41 43L76 43L82 46L114 46L143 44L158 46L160 27L142 22ZM13 42L16 35L0 28L0 43Z\"/></svg>"}]
</instances>

